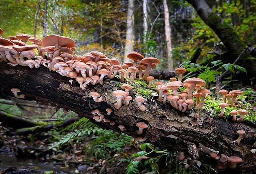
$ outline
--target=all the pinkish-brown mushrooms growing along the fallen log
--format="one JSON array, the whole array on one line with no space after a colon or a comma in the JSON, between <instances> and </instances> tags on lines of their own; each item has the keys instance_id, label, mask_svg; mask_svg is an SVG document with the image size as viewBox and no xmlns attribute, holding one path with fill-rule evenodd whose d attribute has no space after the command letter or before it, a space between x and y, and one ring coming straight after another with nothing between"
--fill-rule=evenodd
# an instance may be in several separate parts
<instances>
[{"instance_id":1,"label":"all the pinkish-brown mushrooms growing along the fallen log","mask_svg":"<svg viewBox=\"0 0 256 174\"><path fill-rule=\"evenodd\" d=\"M2 30L0 29L0 34ZM16 66L29 66L30 68L38 68L45 66L49 70L53 70L70 78L72 84L75 79L80 88L85 89L88 84L104 84L104 78L113 79L119 73L120 81L124 82L125 78L133 82L134 79L139 78L144 81L148 81L148 88L151 88L152 80L154 77L149 76L150 70L156 67L160 61L157 58L148 57L144 58L140 53L131 52L127 55L128 58L133 60L132 62L125 62L120 65L120 62L116 58L108 58L104 53L99 51L91 51L85 53L82 56L78 56L73 51L75 50L75 42L69 37L59 35L47 35L42 40L30 35L19 33L16 36L9 36L8 39L0 37L0 62L8 62L9 65ZM35 51L36 49L36 51ZM36 53L37 52L37 53ZM142 74L144 71L144 74ZM158 101L163 104L171 104L171 106L179 111L185 112L194 107L194 100L196 98L195 106L197 109L202 109L204 99L206 95L210 95L211 92L206 88L201 88L205 85L204 80L199 78L188 78L182 82L182 74L186 72L185 68L179 67L175 70L178 74L178 79L171 78L170 82L162 84L156 81L156 91L159 93ZM183 86L186 90L178 92L178 87ZM138 96L133 99L129 96L129 90L132 90L132 86L123 84L121 86L123 90L116 90L112 93L116 97L114 103L115 109L120 109L122 105L128 105L130 101L137 102L137 106L141 111L145 111L146 108L143 106L145 99L142 96ZM12 92L15 97L23 98L24 95L18 94L20 90L13 88ZM223 96L223 103L220 104L221 112L218 114L219 117L223 116L225 107L231 106L235 101L237 95L241 95L242 91L233 90L228 93L226 90L220 90L220 94ZM93 97L95 102L105 101L104 97L100 96L99 93L93 91L89 94ZM228 99L228 100L227 100ZM167 102L168 101L168 102ZM243 116L248 114L247 111L231 111L230 115L233 116L233 121L242 121ZM111 108L106 109L107 115L110 115L113 110ZM100 113L99 109L92 111L93 119L96 122L104 121L111 125L115 122L108 118L105 118ZM236 119L236 114L240 114L240 118ZM199 114L194 114L195 118L199 118ZM136 123L138 127L137 137L135 140L143 142L147 138L141 137L143 129L147 129L148 125L144 122ZM126 128L123 125L119 125L121 131L125 131ZM238 131L239 138L236 140L240 142L244 131ZM256 136L256 134L255 134ZM256 143L254 144L256 147ZM218 156L216 153L210 154L213 158L218 161L219 169L224 167L235 168L236 162L242 162L239 157L228 157L226 155ZM181 158L179 158L181 159Z\"/></svg>"}]
</instances>

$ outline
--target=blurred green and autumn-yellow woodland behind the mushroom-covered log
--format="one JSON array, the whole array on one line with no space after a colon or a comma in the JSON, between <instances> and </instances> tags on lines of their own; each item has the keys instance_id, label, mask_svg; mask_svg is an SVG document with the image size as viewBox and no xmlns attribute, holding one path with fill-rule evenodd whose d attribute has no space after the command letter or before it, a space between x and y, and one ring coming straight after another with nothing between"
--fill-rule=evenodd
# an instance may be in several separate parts
<instances>
[{"instance_id":1,"label":"blurred green and autumn-yellow woodland behind the mushroom-covered log","mask_svg":"<svg viewBox=\"0 0 256 174\"><path fill-rule=\"evenodd\" d=\"M256 0L207 3L234 27L246 45L256 45ZM4 38L17 33L40 39L50 34L71 37L76 42L77 55L96 50L125 62L127 53L137 51L145 57L159 58L161 63L156 69L169 72L191 61L197 50L200 54L194 63L208 65L219 59L227 63L221 57L225 53L222 41L183 0L3 0L0 1L0 28ZM214 52L220 45L220 52ZM216 79L208 82L214 83ZM126 138L123 137L122 145L129 142ZM157 170L156 163L152 164Z\"/></svg>"}]
</instances>

